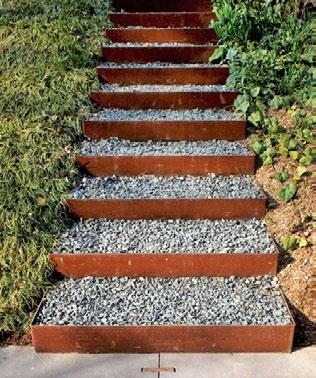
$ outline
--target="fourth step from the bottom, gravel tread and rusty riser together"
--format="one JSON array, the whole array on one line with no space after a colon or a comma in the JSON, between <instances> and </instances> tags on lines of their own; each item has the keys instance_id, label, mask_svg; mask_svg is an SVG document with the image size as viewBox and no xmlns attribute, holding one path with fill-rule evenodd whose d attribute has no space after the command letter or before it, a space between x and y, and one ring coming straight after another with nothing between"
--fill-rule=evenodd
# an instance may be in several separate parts
<instances>
[{"instance_id":1,"label":"fourth step from the bottom, gravel tread and rusty riser together","mask_svg":"<svg viewBox=\"0 0 316 378\"><path fill-rule=\"evenodd\" d=\"M245 175L254 173L255 155L242 142L110 138L84 141L76 162L93 176Z\"/></svg>"}]
</instances>

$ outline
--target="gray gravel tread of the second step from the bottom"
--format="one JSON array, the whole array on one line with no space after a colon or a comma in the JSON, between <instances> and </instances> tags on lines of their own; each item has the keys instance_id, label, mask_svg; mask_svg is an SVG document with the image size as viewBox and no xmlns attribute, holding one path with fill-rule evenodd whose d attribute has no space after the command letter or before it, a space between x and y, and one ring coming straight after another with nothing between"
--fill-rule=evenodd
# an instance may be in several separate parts
<instances>
[{"instance_id":1,"label":"gray gravel tread of the second step from the bottom","mask_svg":"<svg viewBox=\"0 0 316 378\"><path fill-rule=\"evenodd\" d=\"M79 221L59 238L64 253L272 253L266 225L235 220Z\"/></svg>"}]
</instances>

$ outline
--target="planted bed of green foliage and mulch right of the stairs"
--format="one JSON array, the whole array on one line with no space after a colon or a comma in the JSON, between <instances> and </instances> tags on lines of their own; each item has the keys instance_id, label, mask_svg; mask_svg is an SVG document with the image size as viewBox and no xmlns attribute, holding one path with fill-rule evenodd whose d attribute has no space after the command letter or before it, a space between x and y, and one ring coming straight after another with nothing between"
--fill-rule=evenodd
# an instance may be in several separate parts
<instances>
[{"instance_id":1,"label":"planted bed of green foliage and mulch right of the stairs","mask_svg":"<svg viewBox=\"0 0 316 378\"><path fill-rule=\"evenodd\" d=\"M221 47L211 61L230 65L236 112L249 120L256 179L269 198L266 221L282 251L279 279L311 340L311 17L298 0L216 0L211 24ZM309 341L308 341L309 340Z\"/></svg>"}]
</instances>

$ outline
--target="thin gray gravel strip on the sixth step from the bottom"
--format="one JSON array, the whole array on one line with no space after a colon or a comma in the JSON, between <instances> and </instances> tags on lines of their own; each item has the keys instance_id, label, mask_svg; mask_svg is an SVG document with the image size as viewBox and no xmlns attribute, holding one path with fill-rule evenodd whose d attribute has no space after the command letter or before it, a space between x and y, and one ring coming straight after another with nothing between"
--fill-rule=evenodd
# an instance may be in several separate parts
<instances>
[{"instance_id":1,"label":"thin gray gravel strip on the sixth step from the bottom","mask_svg":"<svg viewBox=\"0 0 316 378\"><path fill-rule=\"evenodd\" d=\"M103 84L104 92L234 92L226 85L118 85Z\"/></svg>"}]
</instances>

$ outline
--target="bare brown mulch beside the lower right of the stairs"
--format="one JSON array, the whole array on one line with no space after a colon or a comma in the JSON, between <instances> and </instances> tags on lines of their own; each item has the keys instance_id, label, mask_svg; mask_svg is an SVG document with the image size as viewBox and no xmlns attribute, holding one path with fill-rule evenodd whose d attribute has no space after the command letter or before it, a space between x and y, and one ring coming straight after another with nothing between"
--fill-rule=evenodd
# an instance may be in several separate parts
<instances>
[{"instance_id":1,"label":"bare brown mulch beside the lower right of the stairs","mask_svg":"<svg viewBox=\"0 0 316 378\"><path fill-rule=\"evenodd\" d=\"M276 241L281 236L304 237L309 245L285 251L279 244L280 261L278 278L288 299L297 324L295 346L312 344L312 187L311 179L304 177L298 184L296 198L288 204L278 199L282 184L276 172L293 172L296 165L288 158L276 159L272 166L258 169L255 178L268 196L269 211L265 217L268 229Z\"/></svg>"}]
</instances>

